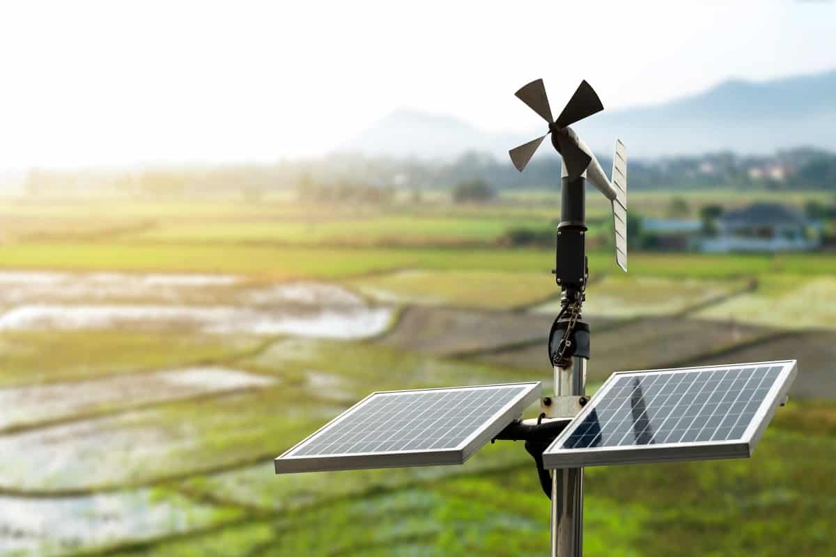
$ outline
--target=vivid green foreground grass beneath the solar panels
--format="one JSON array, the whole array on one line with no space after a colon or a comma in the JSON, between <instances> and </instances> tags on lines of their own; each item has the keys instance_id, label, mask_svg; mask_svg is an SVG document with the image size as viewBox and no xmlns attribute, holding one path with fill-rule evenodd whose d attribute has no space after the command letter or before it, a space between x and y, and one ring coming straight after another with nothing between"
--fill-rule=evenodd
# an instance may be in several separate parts
<instances>
[{"instance_id":1,"label":"vivid green foreground grass beneath the solar panels","mask_svg":"<svg viewBox=\"0 0 836 557\"><path fill-rule=\"evenodd\" d=\"M832 404L829 408L833 412ZM797 423L796 413L793 408L779 411L751 459L587 468L584 554L827 554L828 520L836 510L828 463L836 457L836 442L828 429ZM307 497L265 494L264 501L275 510L262 511L258 516L263 518L252 525L190 539L181 551L214 542L218 554L221 549L239 554L252 547L245 535L252 533L264 540L263 554L268 555L543 554L548 499L538 489L523 448L503 443L473 463L499 453L523 458L505 468L468 473L468 464L454 468L454 475L416 474L405 484L387 481L395 471L385 470L334 473L322 482L308 481L303 474L297 489ZM375 484L375 478L384 483ZM253 474L251 481L271 489L276 480L282 478ZM312 490L306 491L305 484ZM236 492L212 483L200 489ZM255 486L249 491L255 492ZM282 501L294 500L303 506L283 508ZM164 542L149 551L177 554L175 544Z\"/></svg>"}]
</instances>

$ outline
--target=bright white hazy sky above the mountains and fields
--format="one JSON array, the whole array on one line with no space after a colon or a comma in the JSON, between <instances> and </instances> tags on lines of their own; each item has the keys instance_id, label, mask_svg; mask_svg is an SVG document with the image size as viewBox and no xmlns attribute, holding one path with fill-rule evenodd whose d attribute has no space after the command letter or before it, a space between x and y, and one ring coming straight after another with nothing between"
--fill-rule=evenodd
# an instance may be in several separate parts
<instances>
[{"instance_id":1,"label":"bright white hazy sky above the mountains and fields","mask_svg":"<svg viewBox=\"0 0 836 557\"><path fill-rule=\"evenodd\" d=\"M0 169L321 154L398 107L484 129L836 68L836 2L0 4Z\"/></svg>"}]
</instances>

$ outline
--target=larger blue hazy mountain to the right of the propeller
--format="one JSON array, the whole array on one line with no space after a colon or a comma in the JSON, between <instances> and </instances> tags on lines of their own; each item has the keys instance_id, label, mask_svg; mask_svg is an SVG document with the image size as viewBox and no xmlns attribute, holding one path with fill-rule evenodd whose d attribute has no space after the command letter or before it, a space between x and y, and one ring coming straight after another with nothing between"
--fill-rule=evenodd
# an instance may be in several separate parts
<instances>
[{"instance_id":1,"label":"larger blue hazy mountain to the right of the propeller","mask_svg":"<svg viewBox=\"0 0 836 557\"><path fill-rule=\"evenodd\" d=\"M577 131L609 152L619 134L639 156L732 150L767 154L813 145L836 148L836 70L763 82L730 79L665 104L604 111Z\"/></svg>"}]
</instances>

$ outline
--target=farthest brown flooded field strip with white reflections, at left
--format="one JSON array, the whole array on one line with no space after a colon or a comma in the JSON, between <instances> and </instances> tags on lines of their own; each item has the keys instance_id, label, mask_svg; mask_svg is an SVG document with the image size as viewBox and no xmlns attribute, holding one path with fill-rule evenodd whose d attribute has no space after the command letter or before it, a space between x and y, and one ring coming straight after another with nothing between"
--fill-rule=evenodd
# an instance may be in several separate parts
<instances>
[{"instance_id":1,"label":"farthest brown flooded field strip with white reflections, at left","mask_svg":"<svg viewBox=\"0 0 836 557\"><path fill-rule=\"evenodd\" d=\"M353 339L380 334L393 314L339 286L247 285L234 276L5 271L0 285L0 331L178 328Z\"/></svg>"}]
</instances>

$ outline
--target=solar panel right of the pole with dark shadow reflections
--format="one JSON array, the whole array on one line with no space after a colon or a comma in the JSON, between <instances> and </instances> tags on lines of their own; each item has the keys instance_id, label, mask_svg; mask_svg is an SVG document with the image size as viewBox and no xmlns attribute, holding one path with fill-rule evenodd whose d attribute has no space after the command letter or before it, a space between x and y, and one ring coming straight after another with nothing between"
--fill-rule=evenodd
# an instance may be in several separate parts
<instances>
[{"instance_id":1,"label":"solar panel right of the pole with dark shadow reflections","mask_svg":"<svg viewBox=\"0 0 836 557\"><path fill-rule=\"evenodd\" d=\"M543 453L545 468L752 454L795 360L615 372Z\"/></svg>"}]
</instances>

